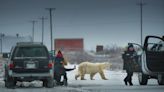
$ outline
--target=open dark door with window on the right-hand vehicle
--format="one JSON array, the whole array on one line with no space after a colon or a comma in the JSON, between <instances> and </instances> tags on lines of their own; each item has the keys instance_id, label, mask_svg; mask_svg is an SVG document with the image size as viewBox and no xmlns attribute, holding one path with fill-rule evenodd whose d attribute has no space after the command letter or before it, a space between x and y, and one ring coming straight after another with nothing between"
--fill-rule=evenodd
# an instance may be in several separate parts
<instances>
[{"instance_id":1,"label":"open dark door with window on the right-hand vehicle","mask_svg":"<svg viewBox=\"0 0 164 92\"><path fill-rule=\"evenodd\" d=\"M144 42L144 69L151 73L164 72L164 39L147 36Z\"/></svg>"}]
</instances>

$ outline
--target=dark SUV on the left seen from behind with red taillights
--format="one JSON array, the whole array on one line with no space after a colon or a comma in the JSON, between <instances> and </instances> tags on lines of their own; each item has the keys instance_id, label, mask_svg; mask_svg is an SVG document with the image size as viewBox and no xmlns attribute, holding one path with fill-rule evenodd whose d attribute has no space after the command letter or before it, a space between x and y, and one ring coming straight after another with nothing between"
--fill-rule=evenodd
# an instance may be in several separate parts
<instances>
[{"instance_id":1,"label":"dark SUV on the left seen from behind with red taillights","mask_svg":"<svg viewBox=\"0 0 164 92\"><path fill-rule=\"evenodd\" d=\"M5 65L5 87L14 87L17 81L43 81L53 87L53 62L46 46L41 43L21 42L11 50Z\"/></svg>"}]
</instances>

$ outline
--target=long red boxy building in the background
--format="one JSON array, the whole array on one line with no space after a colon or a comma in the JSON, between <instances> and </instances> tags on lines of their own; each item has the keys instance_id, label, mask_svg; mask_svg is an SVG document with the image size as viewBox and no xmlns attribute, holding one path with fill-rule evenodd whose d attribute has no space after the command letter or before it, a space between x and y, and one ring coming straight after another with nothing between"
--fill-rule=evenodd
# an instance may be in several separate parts
<instances>
[{"instance_id":1,"label":"long red boxy building in the background","mask_svg":"<svg viewBox=\"0 0 164 92\"><path fill-rule=\"evenodd\" d=\"M55 39L55 50L63 51L83 51L84 41L82 38Z\"/></svg>"}]
</instances>

